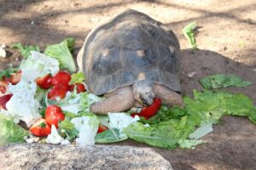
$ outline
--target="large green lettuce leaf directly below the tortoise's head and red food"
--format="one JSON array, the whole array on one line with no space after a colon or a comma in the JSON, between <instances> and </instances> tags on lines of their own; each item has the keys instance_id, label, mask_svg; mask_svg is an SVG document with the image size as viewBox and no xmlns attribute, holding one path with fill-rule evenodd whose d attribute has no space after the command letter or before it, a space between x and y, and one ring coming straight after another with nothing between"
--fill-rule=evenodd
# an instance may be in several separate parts
<instances>
[{"instance_id":1,"label":"large green lettuce leaf directly below the tortoise's head and red food","mask_svg":"<svg viewBox=\"0 0 256 170\"><path fill-rule=\"evenodd\" d=\"M171 119L149 127L141 122L135 122L124 128L123 133L138 142L174 149L177 148L179 139L187 139L194 130L195 122L192 122L188 116L183 116L180 120Z\"/></svg>"}]
</instances>

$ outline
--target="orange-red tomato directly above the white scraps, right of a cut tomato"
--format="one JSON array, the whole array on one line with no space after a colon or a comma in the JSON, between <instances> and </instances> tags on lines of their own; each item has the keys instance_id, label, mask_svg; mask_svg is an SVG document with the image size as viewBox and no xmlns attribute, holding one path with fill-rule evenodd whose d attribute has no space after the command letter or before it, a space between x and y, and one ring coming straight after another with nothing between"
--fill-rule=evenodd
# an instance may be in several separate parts
<instances>
[{"instance_id":1,"label":"orange-red tomato directly above the white scraps, right of a cut tomato","mask_svg":"<svg viewBox=\"0 0 256 170\"><path fill-rule=\"evenodd\" d=\"M61 112L61 107L57 105L49 105L45 111L45 121L51 126L58 128L58 122L65 119L65 115Z\"/></svg>"}]
</instances>

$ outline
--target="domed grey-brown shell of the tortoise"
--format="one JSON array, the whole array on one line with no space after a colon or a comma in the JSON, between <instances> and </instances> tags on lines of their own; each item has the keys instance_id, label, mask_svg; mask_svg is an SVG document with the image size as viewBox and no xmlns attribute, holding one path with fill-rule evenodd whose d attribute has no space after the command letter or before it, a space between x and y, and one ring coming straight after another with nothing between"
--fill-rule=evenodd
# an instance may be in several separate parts
<instances>
[{"instance_id":1,"label":"domed grey-brown shell of the tortoise","mask_svg":"<svg viewBox=\"0 0 256 170\"><path fill-rule=\"evenodd\" d=\"M78 64L96 95L130 86L140 74L180 92L177 37L148 15L127 10L86 37Z\"/></svg>"}]
</instances>

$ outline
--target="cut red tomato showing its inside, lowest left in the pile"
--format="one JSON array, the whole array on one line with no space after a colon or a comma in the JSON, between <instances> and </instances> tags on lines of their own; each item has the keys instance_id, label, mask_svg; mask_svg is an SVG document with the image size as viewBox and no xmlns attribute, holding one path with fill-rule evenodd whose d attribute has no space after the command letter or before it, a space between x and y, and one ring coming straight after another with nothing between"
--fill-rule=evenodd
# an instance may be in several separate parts
<instances>
[{"instance_id":1,"label":"cut red tomato showing its inside, lowest left in the pile","mask_svg":"<svg viewBox=\"0 0 256 170\"><path fill-rule=\"evenodd\" d=\"M50 134L50 127L45 122L44 118L38 119L29 130L33 135L40 137L48 136Z\"/></svg>"}]
</instances>

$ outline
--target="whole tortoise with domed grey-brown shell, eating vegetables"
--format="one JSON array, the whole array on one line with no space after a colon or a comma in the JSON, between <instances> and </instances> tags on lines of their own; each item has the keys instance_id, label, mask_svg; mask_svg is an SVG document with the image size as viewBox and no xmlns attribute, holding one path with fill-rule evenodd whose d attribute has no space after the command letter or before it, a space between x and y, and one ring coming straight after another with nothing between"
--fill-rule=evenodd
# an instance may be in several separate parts
<instances>
[{"instance_id":1,"label":"whole tortoise with domed grey-brown shell, eating vegetables","mask_svg":"<svg viewBox=\"0 0 256 170\"><path fill-rule=\"evenodd\" d=\"M90 31L77 62L90 93L105 99L96 114L152 105L183 106L178 77L180 45L172 30L147 14L128 9Z\"/></svg>"}]
</instances>

